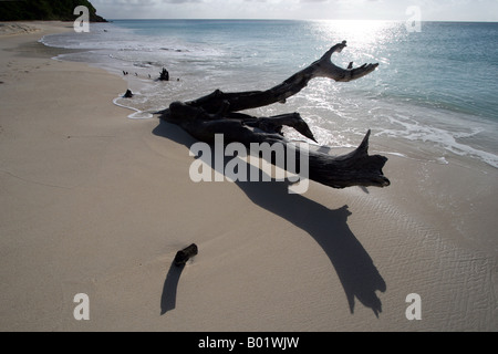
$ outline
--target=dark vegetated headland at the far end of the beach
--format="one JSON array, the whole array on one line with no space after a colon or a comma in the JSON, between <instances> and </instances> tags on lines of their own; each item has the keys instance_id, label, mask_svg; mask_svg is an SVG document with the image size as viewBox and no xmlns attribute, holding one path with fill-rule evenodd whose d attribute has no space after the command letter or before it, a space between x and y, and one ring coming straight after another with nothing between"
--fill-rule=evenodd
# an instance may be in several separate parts
<instances>
[{"instance_id":1,"label":"dark vegetated headland at the far end of the beach","mask_svg":"<svg viewBox=\"0 0 498 354\"><path fill-rule=\"evenodd\" d=\"M0 1L0 21L74 21L76 15L73 12L77 6L89 8L91 22L106 22L87 0Z\"/></svg>"}]
</instances>

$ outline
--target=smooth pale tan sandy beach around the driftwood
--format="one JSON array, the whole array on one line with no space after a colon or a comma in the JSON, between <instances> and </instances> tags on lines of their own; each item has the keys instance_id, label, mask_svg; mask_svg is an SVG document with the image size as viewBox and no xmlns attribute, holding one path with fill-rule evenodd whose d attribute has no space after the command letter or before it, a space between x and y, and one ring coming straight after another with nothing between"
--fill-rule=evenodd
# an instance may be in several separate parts
<instances>
[{"instance_id":1,"label":"smooth pale tan sandy beach around the driftwood","mask_svg":"<svg viewBox=\"0 0 498 354\"><path fill-rule=\"evenodd\" d=\"M387 188L196 184L191 137L38 43L72 23L3 28L0 331L498 331L496 168L373 136Z\"/></svg>"}]
</instances>

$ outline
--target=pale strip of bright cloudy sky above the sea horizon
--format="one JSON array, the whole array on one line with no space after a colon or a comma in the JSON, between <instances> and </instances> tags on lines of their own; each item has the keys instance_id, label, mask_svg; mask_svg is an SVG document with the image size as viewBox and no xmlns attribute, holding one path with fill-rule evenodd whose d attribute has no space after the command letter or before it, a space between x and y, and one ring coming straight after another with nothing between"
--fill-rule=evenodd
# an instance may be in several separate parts
<instances>
[{"instance_id":1,"label":"pale strip of bright cloudy sky above the sea horizon","mask_svg":"<svg viewBox=\"0 0 498 354\"><path fill-rule=\"evenodd\" d=\"M91 0L106 19L498 21L497 0Z\"/></svg>"}]
</instances>

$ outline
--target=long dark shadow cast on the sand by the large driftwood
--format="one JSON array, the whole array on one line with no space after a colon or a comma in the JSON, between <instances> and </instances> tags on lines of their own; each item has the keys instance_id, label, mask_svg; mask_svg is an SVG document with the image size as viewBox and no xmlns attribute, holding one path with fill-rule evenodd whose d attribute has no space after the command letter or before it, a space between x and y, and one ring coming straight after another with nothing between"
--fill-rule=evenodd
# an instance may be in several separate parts
<instances>
[{"instance_id":1,"label":"long dark shadow cast on the sand by the large driftwood","mask_svg":"<svg viewBox=\"0 0 498 354\"><path fill-rule=\"evenodd\" d=\"M165 122L160 122L153 133L184 144L187 147L190 147L196 142L179 127ZM216 166L212 162L210 164L209 162L206 163L211 168ZM292 222L313 237L329 257L338 273L351 313L354 312L356 299L366 308L372 309L375 315L378 316L378 313L382 312L382 303L376 291L384 292L386 284L375 268L372 258L347 226L347 217L351 215L347 206L335 210L329 209L302 195L289 194L288 181L261 181L262 174L260 171L260 181L236 181L236 184L252 202ZM167 284L169 283L168 278L165 282L165 289L169 289ZM176 279L177 281L178 279ZM173 275L170 283L175 283ZM176 287L173 288L176 289ZM166 299L173 295L168 294L169 292L172 292L170 289L166 289L163 292L163 294L166 293Z\"/></svg>"}]
</instances>

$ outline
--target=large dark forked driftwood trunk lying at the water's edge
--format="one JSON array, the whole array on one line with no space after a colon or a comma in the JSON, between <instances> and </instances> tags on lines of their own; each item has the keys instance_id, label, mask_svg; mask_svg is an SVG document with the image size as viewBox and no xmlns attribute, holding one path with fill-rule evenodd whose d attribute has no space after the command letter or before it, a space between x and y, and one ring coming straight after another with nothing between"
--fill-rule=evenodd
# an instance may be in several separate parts
<instances>
[{"instance_id":1,"label":"large dark forked driftwood trunk lying at the water's edge","mask_svg":"<svg viewBox=\"0 0 498 354\"><path fill-rule=\"evenodd\" d=\"M370 74L378 66L378 64L363 64L353 69L353 64L350 63L347 69L342 69L334 65L331 61L332 54L341 52L345 46L345 41L333 45L321 59L267 91L225 93L216 90L194 101L173 102L168 108L157 113L160 114L160 118L179 125L191 136L206 143L214 143L216 134L224 134L225 144L238 142L247 147L251 143L292 144L281 133L284 125L315 140L299 113L255 117L240 111L286 103L287 98L304 88L314 77L349 82ZM388 186L390 180L382 171L387 158L369 155L369 137L370 131L355 150L342 156L310 150L309 178L333 188ZM297 154L298 158L300 154Z\"/></svg>"}]
</instances>

